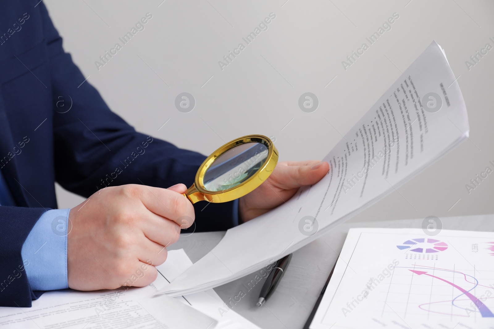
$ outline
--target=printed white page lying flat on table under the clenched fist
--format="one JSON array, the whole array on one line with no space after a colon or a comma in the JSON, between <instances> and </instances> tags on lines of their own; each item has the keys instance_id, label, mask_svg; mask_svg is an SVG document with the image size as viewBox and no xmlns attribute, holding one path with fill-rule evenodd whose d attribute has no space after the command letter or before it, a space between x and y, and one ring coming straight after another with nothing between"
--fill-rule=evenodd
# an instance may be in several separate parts
<instances>
[{"instance_id":1,"label":"printed white page lying flat on table under the clenched fist","mask_svg":"<svg viewBox=\"0 0 494 329\"><path fill-rule=\"evenodd\" d=\"M0 328L215 328L216 320L177 299L153 298L153 291L148 286L45 292L33 301L32 307L0 307Z\"/></svg>"}]
</instances>

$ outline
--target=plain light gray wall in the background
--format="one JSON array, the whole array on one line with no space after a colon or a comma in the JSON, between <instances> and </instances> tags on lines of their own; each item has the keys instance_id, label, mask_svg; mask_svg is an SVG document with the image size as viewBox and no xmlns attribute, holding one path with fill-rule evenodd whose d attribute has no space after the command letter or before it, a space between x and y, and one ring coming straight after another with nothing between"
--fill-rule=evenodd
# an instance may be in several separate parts
<instances>
[{"instance_id":1,"label":"plain light gray wall in the background","mask_svg":"<svg viewBox=\"0 0 494 329\"><path fill-rule=\"evenodd\" d=\"M470 194L465 188L494 168L494 49L470 70L465 64L494 46L493 1L44 2L65 50L112 110L141 132L204 154L257 133L276 137L282 161L321 159L435 39L459 76L470 139L352 220L494 213L494 173ZM145 29L98 71L95 61L147 12ZM218 61L271 12L268 30L221 70ZM395 12L391 30L345 71L346 56ZM182 92L196 100L191 112L174 106ZM298 107L305 92L319 99L312 113ZM57 198L60 208L83 200L58 185Z\"/></svg>"}]
</instances>

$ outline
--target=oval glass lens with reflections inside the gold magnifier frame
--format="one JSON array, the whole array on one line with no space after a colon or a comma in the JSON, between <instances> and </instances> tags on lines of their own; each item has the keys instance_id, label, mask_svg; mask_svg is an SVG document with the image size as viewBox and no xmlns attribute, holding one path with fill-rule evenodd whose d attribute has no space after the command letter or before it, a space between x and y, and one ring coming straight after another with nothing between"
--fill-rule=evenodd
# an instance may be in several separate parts
<instances>
[{"instance_id":1,"label":"oval glass lens with reflections inside the gold magnifier frame","mask_svg":"<svg viewBox=\"0 0 494 329\"><path fill-rule=\"evenodd\" d=\"M235 146L218 156L206 170L204 187L208 191L224 191L247 181L262 167L268 148L250 142Z\"/></svg>"}]
</instances>

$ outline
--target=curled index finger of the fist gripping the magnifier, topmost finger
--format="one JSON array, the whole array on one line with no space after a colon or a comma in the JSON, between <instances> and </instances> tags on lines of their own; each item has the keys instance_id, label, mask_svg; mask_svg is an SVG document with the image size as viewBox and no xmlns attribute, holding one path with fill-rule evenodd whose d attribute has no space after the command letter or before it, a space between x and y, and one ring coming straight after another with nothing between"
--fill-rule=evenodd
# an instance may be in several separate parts
<instances>
[{"instance_id":1,"label":"curled index finger of the fist gripping the magnifier, topmost finger","mask_svg":"<svg viewBox=\"0 0 494 329\"><path fill-rule=\"evenodd\" d=\"M166 188L146 185L125 186L130 186L127 187L129 189L127 193L137 194L144 206L156 215L173 220L179 225L183 224L181 222L181 217L183 219L183 216L190 219L190 225L196 218L192 203L180 193ZM134 188L137 190L133 190Z\"/></svg>"}]
</instances>

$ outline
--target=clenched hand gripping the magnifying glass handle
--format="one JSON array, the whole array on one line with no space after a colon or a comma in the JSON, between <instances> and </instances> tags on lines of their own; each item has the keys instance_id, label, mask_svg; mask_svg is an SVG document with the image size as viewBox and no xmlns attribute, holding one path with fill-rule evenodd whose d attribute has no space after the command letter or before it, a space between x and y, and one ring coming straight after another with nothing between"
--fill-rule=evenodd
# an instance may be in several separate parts
<instances>
[{"instance_id":1,"label":"clenched hand gripping the magnifying glass handle","mask_svg":"<svg viewBox=\"0 0 494 329\"><path fill-rule=\"evenodd\" d=\"M128 184L105 187L70 210L67 235L69 288L89 291L144 287L166 259L180 228L192 225L187 186L167 189ZM152 265L151 265L152 264Z\"/></svg>"}]
</instances>

